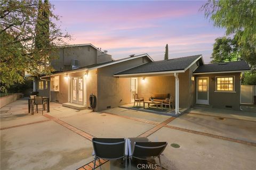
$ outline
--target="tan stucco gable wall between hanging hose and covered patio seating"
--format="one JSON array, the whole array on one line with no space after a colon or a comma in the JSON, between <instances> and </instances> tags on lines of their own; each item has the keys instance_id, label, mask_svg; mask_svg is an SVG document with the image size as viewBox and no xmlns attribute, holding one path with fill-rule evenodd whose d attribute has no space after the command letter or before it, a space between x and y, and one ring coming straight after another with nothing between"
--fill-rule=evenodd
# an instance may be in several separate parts
<instances>
[{"instance_id":1,"label":"tan stucco gable wall between hanging hose and covered patio seating","mask_svg":"<svg viewBox=\"0 0 256 170\"><path fill-rule=\"evenodd\" d=\"M145 58L145 63L149 62ZM98 110L131 103L131 78L115 78L114 73L142 64L142 57L98 69Z\"/></svg>"}]
</instances>

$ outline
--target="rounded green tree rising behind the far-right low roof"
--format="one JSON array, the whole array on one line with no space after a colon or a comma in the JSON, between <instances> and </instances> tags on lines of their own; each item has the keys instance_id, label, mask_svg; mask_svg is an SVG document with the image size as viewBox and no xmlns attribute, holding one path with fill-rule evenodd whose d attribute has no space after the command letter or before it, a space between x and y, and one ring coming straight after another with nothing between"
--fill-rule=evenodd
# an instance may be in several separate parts
<instances>
[{"instance_id":1,"label":"rounded green tree rising behind the far-right low roof","mask_svg":"<svg viewBox=\"0 0 256 170\"><path fill-rule=\"evenodd\" d=\"M220 37L215 39L212 52L212 63L237 61L240 51L235 39Z\"/></svg>"}]
</instances>

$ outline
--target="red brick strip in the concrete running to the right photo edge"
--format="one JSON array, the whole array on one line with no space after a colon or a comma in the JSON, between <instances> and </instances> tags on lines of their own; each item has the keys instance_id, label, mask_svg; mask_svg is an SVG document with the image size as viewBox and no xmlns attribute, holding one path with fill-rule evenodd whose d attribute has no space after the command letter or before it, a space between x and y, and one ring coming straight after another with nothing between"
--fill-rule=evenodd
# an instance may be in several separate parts
<instances>
[{"instance_id":1,"label":"red brick strip in the concrete running to the right photo edge","mask_svg":"<svg viewBox=\"0 0 256 170\"><path fill-rule=\"evenodd\" d=\"M175 129L175 130L180 130L180 131L183 131L183 132L189 132L189 133L194 133L194 134L200 134L200 135L204 135L204 136L207 136L207 137L217 138L217 139L221 139L221 140L227 140L227 141L236 142L236 143L242 143L242 144L244 144L244 145L250 145L250 146L256 147L256 143L254 143L254 142L247 142L247 141L243 141L243 140L238 140L238 139L233 139L233 138L228 138L228 137L222 137L222 136L215 135L215 134L204 133L204 132L198 132L198 131L189 130L189 129L183 129L183 128L178 128L178 127L170 126L170 125L165 125L165 127L166 127L166 128Z\"/></svg>"}]
</instances>

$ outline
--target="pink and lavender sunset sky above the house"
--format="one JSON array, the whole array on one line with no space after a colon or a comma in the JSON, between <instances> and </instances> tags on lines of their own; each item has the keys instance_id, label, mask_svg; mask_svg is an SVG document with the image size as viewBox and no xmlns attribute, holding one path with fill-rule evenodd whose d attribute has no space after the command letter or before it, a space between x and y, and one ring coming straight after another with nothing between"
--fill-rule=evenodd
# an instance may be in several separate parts
<instances>
[{"instance_id":1,"label":"pink and lavender sunset sky above the house","mask_svg":"<svg viewBox=\"0 0 256 170\"><path fill-rule=\"evenodd\" d=\"M205 1L50 1L61 16L68 44L91 43L115 60L148 53L153 60L202 54L211 61L214 40L225 30L199 8Z\"/></svg>"}]
</instances>

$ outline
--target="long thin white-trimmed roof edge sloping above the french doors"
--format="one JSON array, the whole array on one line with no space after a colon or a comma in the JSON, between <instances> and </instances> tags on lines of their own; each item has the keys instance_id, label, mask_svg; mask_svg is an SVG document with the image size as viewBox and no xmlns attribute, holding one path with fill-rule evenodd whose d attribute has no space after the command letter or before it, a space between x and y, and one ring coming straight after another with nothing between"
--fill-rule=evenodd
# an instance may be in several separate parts
<instances>
[{"instance_id":1,"label":"long thin white-trimmed roof edge sloping above the french doors","mask_svg":"<svg viewBox=\"0 0 256 170\"><path fill-rule=\"evenodd\" d=\"M105 66L109 66L109 65L113 65L113 64L117 64L117 63L121 63L121 62L125 62L125 61L129 61L129 60L133 60L135 58L140 58L140 57L148 57L148 59L151 62L154 62L154 60L146 53L146 54L140 54L140 55L135 55L133 57L126 57L126 58L122 58L119 60L114 60L114 61L110 61L110 62L105 62L105 63L100 63L100 64L92 64L92 65L87 65L87 66L83 66L83 67L79 67L78 69L74 69L74 70L69 70L69 71L64 71L64 72L59 72L59 73L53 73L51 75L60 75L60 74L66 74L66 73L71 73L71 72L78 72L78 71L84 71L84 70L93 70L93 69L99 69L101 67L105 67ZM43 77L49 77L49 75L44 75ZM42 78L43 78L42 77Z\"/></svg>"}]
</instances>

